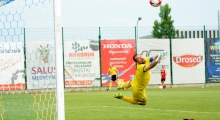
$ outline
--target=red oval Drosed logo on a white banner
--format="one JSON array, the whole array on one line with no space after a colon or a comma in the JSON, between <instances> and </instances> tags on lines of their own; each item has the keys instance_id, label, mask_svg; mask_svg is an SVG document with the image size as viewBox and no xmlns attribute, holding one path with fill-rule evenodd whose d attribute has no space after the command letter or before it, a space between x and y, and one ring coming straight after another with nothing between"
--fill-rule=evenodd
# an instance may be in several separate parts
<instances>
[{"instance_id":1,"label":"red oval Drosed logo on a white banner","mask_svg":"<svg viewBox=\"0 0 220 120\"><path fill-rule=\"evenodd\" d=\"M191 54L173 57L173 61L182 67L194 67L201 63L202 60L203 56Z\"/></svg>"}]
</instances>

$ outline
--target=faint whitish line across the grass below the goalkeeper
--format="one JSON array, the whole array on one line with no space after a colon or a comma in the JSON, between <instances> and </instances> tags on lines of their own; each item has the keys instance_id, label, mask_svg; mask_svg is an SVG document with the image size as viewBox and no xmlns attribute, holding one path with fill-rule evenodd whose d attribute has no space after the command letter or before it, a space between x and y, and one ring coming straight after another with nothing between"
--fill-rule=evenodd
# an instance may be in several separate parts
<instances>
[{"instance_id":1,"label":"faint whitish line across the grass below the goalkeeper","mask_svg":"<svg viewBox=\"0 0 220 120\"><path fill-rule=\"evenodd\" d=\"M138 107L118 107L118 106L72 106L72 108L121 108L121 109L144 109L144 110L155 110L155 111L165 111L165 112L185 112L185 113L199 113L199 114L220 114L220 112L199 112L199 111L186 111L186 110L168 110L168 109L155 109L155 108L138 108ZM72 108L66 108L72 109Z\"/></svg>"}]
</instances>

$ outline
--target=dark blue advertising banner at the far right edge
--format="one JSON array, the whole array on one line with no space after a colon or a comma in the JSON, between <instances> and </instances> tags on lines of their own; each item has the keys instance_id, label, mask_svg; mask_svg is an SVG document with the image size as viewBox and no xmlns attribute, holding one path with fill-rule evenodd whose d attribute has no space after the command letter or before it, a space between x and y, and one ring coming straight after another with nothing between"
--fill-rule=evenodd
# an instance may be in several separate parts
<instances>
[{"instance_id":1,"label":"dark blue advertising banner at the far right edge","mask_svg":"<svg viewBox=\"0 0 220 120\"><path fill-rule=\"evenodd\" d=\"M206 82L220 82L220 39L206 39Z\"/></svg>"}]
</instances>

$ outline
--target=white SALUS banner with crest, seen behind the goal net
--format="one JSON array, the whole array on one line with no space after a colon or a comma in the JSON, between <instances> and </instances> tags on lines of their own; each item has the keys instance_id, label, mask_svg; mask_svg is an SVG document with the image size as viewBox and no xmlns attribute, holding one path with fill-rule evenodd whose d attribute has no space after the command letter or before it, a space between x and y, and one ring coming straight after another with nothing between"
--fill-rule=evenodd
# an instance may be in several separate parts
<instances>
[{"instance_id":1,"label":"white SALUS banner with crest, seen behind the goal net","mask_svg":"<svg viewBox=\"0 0 220 120\"><path fill-rule=\"evenodd\" d=\"M56 87L54 41L27 42L26 54L27 88Z\"/></svg>"}]
</instances>

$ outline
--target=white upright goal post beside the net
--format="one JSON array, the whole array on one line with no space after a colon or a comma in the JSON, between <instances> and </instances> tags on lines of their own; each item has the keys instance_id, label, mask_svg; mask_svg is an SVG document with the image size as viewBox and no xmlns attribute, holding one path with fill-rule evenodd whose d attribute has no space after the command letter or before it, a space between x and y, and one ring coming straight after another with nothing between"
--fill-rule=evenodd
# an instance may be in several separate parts
<instances>
[{"instance_id":1,"label":"white upright goal post beside the net","mask_svg":"<svg viewBox=\"0 0 220 120\"><path fill-rule=\"evenodd\" d=\"M54 0L54 20L57 76L57 118L58 120L65 120L61 0Z\"/></svg>"}]
</instances>

